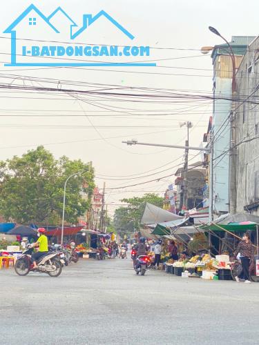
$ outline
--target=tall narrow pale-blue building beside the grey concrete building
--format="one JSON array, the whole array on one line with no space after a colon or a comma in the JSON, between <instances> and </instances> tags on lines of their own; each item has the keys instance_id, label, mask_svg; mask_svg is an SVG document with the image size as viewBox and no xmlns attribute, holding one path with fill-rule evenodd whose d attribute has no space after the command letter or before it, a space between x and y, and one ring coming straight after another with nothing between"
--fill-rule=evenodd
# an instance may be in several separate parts
<instances>
[{"instance_id":1,"label":"tall narrow pale-blue building beside the grey concrete building","mask_svg":"<svg viewBox=\"0 0 259 345\"><path fill-rule=\"evenodd\" d=\"M249 43L254 37L233 36L229 42L235 55L236 68L240 66ZM229 146L231 111L232 61L227 43L215 46L213 63L213 213L229 212ZM244 92L245 94L246 92ZM222 99L223 98L223 99ZM225 98L225 99L224 99ZM224 152L228 151L226 155Z\"/></svg>"}]
</instances>

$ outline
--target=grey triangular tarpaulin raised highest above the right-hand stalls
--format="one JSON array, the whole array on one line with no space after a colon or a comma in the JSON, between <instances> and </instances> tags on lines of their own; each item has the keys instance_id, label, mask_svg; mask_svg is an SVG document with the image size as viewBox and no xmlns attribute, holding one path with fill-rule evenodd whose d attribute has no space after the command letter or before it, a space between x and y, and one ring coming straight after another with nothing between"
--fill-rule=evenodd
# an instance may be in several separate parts
<instances>
[{"instance_id":1,"label":"grey triangular tarpaulin raised highest above the right-hand stalls","mask_svg":"<svg viewBox=\"0 0 259 345\"><path fill-rule=\"evenodd\" d=\"M157 207L153 204L146 203L144 208L144 213L142 215L141 223L142 224L158 224L164 221L171 221L176 219L183 219L174 213L163 210L160 207Z\"/></svg>"}]
</instances>

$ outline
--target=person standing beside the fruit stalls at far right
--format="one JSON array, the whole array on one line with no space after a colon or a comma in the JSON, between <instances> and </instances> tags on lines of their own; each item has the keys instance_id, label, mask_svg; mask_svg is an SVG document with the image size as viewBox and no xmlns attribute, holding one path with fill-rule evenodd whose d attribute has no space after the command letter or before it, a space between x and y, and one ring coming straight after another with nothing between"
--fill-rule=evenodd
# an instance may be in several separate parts
<instances>
[{"instance_id":1,"label":"person standing beside the fruit stalls at far right","mask_svg":"<svg viewBox=\"0 0 259 345\"><path fill-rule=\"evenodd\" d=\"M236 281L239 283L240 279L244 279L245 283L251 283L249 280L249 266L253 261L254 250L248 232L244 234L242 241L239 242L238 248L236 248L236 251L234 253L235 257L239 253L242 264L242 271L236 277Z\"/></svg>"}]
</instances>

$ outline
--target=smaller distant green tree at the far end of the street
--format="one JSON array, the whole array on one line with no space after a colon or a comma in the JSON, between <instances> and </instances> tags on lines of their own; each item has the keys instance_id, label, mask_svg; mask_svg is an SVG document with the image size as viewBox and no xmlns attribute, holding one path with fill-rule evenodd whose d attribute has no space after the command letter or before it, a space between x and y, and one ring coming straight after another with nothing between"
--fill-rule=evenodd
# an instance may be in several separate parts
<instances>
[{"instance_id":1,"label":"smaller distant green tree at the far end of the street","mask_svg":"<svg viewBox=\"0 0 259 345\"><path fill-rule=\"evenodd\" d=\"M126 206L121 206L115 210L113 224L115 230L120 234L130 234L133 231L140 230L140 221L144 212L146 202L155 206L163 206L163 198L157 194L146 193L143 197L132 197L122 199Z\"/></svg>"}]
</instances>

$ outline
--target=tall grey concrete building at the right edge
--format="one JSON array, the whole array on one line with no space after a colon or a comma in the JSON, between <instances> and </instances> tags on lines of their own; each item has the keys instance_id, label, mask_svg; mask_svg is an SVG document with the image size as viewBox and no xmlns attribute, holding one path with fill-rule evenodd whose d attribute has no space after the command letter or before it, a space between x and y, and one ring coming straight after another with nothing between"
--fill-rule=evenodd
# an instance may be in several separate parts
<instances>
[{"instance_id":1,"label":"tall grey concrete building at the right edge","mask_svg":"<svg viewBox=\"0 0 259 345\"><path fill-rule=\"evenodd\" d=\"M236 74L233 104L236 212L259 215L259 37L247 49Z\"/></svg>"}]
</instances>

